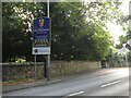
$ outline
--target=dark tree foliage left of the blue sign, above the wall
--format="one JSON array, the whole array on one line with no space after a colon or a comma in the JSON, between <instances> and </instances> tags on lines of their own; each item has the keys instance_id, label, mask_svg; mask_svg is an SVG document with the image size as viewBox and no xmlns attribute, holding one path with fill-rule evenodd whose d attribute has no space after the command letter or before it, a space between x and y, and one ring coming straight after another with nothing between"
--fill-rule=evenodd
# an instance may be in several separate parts
<instances>
[{"instance_id":1,"label":"dark tree foliage left of the blue sign, above the wall","mask_svg":"<svg viewBox=\"0 0 131 98\"><path fill-rule=\"evenodd\" d=\"M24 56L27 59L32 57L31 37L33 19L45 14L40 12L46 10L45 7L45 3L2 3L3 61L7 59L11 61L15 57Z\"/></svg>"}]
</instances>

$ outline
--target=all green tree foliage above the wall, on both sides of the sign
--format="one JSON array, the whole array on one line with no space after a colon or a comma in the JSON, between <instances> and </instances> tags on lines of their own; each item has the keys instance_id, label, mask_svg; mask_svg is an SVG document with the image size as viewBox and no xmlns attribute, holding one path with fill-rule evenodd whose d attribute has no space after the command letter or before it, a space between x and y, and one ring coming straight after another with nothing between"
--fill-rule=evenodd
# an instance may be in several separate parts
<instances>
[{"instance_id":1,"label":"all green tree foliage above the wall, on both sides of the sign","mask_svg":"<svg viewBox=\"0 0 131 98\"><path fill-rule=\"evenodd\" d=\"M121 12L119 2L53 2L50 3L51 59L102 60L112 42L106 22ZM32 60L32 28L35 17L47 15L46 3L2 3L3 61L24 56Z\"/></svg>"}]
</instances>

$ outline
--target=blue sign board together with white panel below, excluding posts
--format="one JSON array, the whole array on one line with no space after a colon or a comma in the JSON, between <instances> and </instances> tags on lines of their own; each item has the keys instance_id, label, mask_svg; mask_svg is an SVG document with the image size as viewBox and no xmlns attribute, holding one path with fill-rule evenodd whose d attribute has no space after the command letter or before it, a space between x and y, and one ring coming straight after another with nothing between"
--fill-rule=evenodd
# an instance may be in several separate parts
<instances>
[{"instance_id":1,"label":"blue sign board together with white panel below, excluding posts","mask_svg":"<svg viewBox=\"0 0 131 98\"><path fill-rule=\"evenodd\" d=\"M33 23L33 54L50 54L50 19L38 17Z\"/></svg>"}]
</instances>

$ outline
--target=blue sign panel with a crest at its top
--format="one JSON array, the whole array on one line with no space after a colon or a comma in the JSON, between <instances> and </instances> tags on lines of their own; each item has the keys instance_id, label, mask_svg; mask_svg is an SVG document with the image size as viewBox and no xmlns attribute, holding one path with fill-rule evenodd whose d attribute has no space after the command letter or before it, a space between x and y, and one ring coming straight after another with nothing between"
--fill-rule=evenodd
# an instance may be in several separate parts
<instances>
[{"instance_id":1,"label":"blue sign panel with a crest at its top","mask_svg":"<svg viewBox=\"0 0 131 98\"><path fill-rule=\"evenodd\" d=\"M34 20L33 26L34 46L50 45L50 20L49 17L38 17Z\"/></svg>"}]
</instances>

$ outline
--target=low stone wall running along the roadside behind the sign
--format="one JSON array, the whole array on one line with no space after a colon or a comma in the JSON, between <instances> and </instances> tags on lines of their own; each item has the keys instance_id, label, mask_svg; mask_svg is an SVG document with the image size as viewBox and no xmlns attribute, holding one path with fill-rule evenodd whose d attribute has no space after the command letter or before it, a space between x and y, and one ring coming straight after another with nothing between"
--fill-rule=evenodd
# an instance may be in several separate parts
<instances>
[{"instance_id":1,"label":"low stone wall running along the roadside behind the sign","mask_svg":"<svg viewBox=\"0 0 131 98\"><path fill-rule=\"evenodd\" d=\"M92 70L100 69L99 62L86 62L86 61L51 61L50 76L61 76L68 74L75 74L81 72L87 72ZM44 78L44 62L37 63L36 76L37 79ZM21 81L21 79L34 79L35 66L34 63L3 63L2 64L2 81Z\"/></svg>"}]
</instances>

